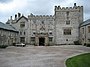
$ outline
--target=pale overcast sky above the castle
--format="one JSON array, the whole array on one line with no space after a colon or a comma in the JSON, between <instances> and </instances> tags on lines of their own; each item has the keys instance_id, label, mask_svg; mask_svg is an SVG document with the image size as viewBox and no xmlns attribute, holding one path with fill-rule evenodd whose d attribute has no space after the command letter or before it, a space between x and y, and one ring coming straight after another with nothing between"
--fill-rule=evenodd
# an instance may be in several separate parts
<instances>
[{"instance_id":1,"label":"pale overcast sky above the castle","mask_svg":"<svg viewBox=\"0 0 90 67\"><path fill-rule=\"evenodd\" d=\"M10 16L18 12L25 16L33 13L35 15L54 15L54 6L73 7L84 6L84 20L90 18L90 0L0 0L0 21L5 23Z\"/></svg>"}]
</instances>

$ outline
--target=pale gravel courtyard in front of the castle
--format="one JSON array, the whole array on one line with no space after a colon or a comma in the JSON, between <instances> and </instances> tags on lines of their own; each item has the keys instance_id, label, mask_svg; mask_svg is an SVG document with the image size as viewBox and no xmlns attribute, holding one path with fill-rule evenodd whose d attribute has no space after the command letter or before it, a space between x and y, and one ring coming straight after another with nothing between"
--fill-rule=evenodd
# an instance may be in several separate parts
<instances>
[{"instance_id":1,"label":"pale gravel courtyard in front of the castle","mask_svg":"<svg viewBox=\"0 0 90 67\"><path fill-rule=\"evenodd\" d=\"M90 52L90 47L62 46L10 46L0 49L0 67L65 67L71 56Z\"/></svg>"}]
</instances>

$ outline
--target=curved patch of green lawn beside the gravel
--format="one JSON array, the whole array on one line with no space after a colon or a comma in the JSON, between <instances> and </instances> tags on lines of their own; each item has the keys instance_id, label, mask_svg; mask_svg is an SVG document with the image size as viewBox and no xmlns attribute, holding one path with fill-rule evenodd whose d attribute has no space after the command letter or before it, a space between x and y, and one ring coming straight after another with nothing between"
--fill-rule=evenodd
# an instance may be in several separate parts
<instances>
[{"instance_id":1,"label":"curved patch of green lawn beside the gravel","mask_svg":"<svg viewBox=\"0 0 90 67\"><path fill-rule=\"evenodd\" d=\"M90 67L90 53L81 54L66 60L67 67Z\"/></svg>"}]
</instances>

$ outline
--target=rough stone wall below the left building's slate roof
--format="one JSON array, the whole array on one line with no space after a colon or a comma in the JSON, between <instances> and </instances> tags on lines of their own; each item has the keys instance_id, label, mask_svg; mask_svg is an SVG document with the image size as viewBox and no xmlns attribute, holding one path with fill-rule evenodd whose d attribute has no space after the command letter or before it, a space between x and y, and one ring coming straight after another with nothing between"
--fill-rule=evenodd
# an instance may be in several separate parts
<instances>
[{"instance_id":1,"label":"rough stone wall below the left building's slate roof","mask_svg":"<svg viewBox=\"0 0 90 67\"><path fill-rule=\"evenodd\" d=\"M17 43L18 33L0 29L0 45L13 45Z\"/></svg>"}]
</instances>

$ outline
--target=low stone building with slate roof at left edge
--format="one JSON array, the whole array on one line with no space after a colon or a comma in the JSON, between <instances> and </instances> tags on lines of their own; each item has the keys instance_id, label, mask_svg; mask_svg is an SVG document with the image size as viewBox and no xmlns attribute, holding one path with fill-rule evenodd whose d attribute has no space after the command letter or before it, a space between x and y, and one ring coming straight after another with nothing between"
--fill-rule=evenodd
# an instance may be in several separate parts
<instances>
[{"instance_id":1,"label":"low stone building with slate roof at left edge","mask_svg":"<svg viewBox=\"0 0 90 67\"><path fill-rule=\"evenodd\" d=\"M7 24L0 22L0 45L13 45L17 43L18 31Z\"/></svg>"}]
</instances>

